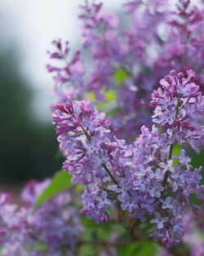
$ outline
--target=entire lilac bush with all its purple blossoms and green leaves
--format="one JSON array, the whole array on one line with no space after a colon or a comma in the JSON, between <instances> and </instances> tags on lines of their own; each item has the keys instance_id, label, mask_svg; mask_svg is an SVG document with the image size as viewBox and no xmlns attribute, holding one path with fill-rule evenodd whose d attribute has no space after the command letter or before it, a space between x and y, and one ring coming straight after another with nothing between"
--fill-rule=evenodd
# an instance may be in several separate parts
<instances>
[{"instance_id":1,"label":"entire lilac bush with all its purple blossoms and green leaves","mask_svg":"<svg viewBox=\"0 0 204 256\"><path fill-rule=\"evenodd\" d=\"M204 254L204 2L123 7L85 0L79 50L52 42L52 120L75 185L29 182L22 208L1 194L3 256Z\"/></svg>"}]
</instances>

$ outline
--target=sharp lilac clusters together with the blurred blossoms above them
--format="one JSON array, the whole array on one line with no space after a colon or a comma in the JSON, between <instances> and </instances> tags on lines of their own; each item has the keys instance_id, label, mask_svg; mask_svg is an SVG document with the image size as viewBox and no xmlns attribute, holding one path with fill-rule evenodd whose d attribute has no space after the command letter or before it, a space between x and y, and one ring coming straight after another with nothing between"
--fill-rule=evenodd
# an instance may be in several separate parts
<instances>
[{"instance_id":1,"label":"sharp lilac clusters together with the blurred blossoms above them","mask_svg":"<svg viewBox=\"0 0 204 256\"><path fill-rule=\"evenodd\" d=\"M202 167L193 168L185 145L197 154L203 146L204 97L197 85L203 83L203 6L180 0L168 10L167 4L126 2L130 25L121 29L101 3L86 1L79 17L82 51L90 49L92 69L86 70L80 52L65 61L67 48L59 40L50 54L65 65L48 70L58 78L53 122L66 157L63 168L85 186L81 213L97 223L115 211L149 220L149 236L169 248L184 236L189 195L202 197ZM100 102L109 121L97 110Z\"/></svg>"}]
</instances>

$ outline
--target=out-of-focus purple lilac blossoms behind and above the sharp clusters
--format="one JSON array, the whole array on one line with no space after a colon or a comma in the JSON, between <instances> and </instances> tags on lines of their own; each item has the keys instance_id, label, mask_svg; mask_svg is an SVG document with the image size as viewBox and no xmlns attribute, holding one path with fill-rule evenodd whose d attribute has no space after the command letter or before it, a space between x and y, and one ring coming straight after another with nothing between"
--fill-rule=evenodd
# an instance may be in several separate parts
<instances>
[{"instance_id":1,"label":"out-of-focus purple lilac blossoms behind and above the sharp clusters","mask_svg":"<svg viewBox=\"0 0 204 256\"><path fill-rule=\"evenodd\" d=\"M203 2L178 0L171 7L171 1L127 1L122 20L104 13L101 2L84 2L80 50L68 60L68 43L63 47L58 40L50 52L52 59L63 60L47 66L55 74L57 102L64 103L64 92L74 90L77 99L91 92L95 105L104 103L118 138L131 141L143 124L150 128L150 93L161 77L193 68L203 85ZM86 52L83 61L80 52ZM115 101L109 102L106 92Z\"/></svg>"}]
</instances>

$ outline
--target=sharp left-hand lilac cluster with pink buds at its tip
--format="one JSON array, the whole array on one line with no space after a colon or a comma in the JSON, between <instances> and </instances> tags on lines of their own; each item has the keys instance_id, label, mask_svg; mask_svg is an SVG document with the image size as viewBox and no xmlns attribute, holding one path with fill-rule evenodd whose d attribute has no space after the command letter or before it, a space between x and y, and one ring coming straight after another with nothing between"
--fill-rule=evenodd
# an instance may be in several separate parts
<instances>
[{"instance_id":1,"label":"sharp left-hand lilac cluster with pink buds at its tip","mask_svg":"<svg viewBox=\"0 0 204 256\"><path fill-rule=\"evenodd\" d=\"M66 155L63 167L73 175L73 182L86 185L82 213L95 222L106 222L107 206L112 202L104 191L104 184L110 182L105 164L109 161L113 171L120 173L122 166L118 164L122 165L122 159L125 163L126 146L124 141L109 141L104 113L92 109L87 101L73 101L70 95L68 99L64 106L55 106L53 115L60 149ZM112 174L111 177L114 181Z\"/></svg>"}]
</instances>

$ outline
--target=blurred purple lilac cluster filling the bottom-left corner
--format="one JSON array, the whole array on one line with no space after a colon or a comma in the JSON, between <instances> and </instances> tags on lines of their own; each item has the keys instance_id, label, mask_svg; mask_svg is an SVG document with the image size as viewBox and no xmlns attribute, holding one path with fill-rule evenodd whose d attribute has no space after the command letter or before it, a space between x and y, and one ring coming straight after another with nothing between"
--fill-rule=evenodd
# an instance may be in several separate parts
<instances>
[{"instance_id":1,"label":"blurred purple lilac cluster filling the bottom-left corner","mask_svg":"<svg viewBox=\"0 0 204 256\"><path fill-rule=\"evenodd\" d=\"M77 209L68 191L60 192L38 209L33 204L50 183L29 182L22 192L25 207L9 204L7 194L1 194L1 255L44 256L75 255L74 249L82 233Z\"/></svg>"}]
</instances>

